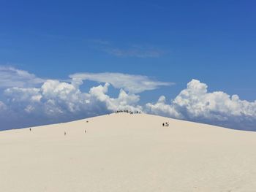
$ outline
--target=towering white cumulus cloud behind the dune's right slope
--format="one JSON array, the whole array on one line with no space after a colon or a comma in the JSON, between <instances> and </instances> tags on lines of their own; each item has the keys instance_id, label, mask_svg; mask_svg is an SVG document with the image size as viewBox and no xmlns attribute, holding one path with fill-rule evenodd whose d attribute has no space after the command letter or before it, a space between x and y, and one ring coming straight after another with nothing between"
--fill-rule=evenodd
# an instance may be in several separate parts
<instances>
[{"instance_id":1,"label":"towering white cumulus cloud behind the dune's right slope","mask_svg":"<svg viewBox=\"0 0 256 192\"><path fill-rule=\"evenodd\" d=\"M218 126L256 129L256 101L241 100L237 95L230 96L222 91L208 93L207 88L205 83L192 80L169 104L161 96L156 103L146 104L146 110L157 115Z\"/></svg>"}]
</instances>

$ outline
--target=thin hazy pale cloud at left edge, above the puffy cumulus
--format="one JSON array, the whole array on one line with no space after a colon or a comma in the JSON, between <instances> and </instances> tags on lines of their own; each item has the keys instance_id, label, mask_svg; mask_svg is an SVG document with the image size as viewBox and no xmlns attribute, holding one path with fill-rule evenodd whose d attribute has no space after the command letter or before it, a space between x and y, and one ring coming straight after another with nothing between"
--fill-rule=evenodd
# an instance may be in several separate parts
<instances>
[{"instance_id":1,"label":"thin hazy pale cloud at left edge, above the puffy cumulus","mask_svg":"<svg viewBox=\"0 0 256 192\"><path fill-rule=\"evenodd\" d=\"M0 66L0 88L29 87L44 81L34 74L15 69L12 66Z\"/></svg>"}]
</instances>

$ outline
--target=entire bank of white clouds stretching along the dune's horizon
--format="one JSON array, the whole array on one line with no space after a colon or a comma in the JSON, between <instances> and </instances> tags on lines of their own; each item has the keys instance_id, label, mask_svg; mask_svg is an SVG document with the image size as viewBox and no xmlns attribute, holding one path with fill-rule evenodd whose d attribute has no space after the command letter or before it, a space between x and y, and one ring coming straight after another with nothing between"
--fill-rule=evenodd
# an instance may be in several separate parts
<instances>
[{"instance_id":1,"label":"entire bank of white clouds stretching along the dune's horizon","mask_svg":"<svg viewBox=\"0 0 256 192\"><path fill-rule=\"evenodd\" d=\"M154 115L192 120L228 128L256 131L256 101L249 102L222 91L208 92L199 80L188 82L172 101L141 105L140 93L172 85L149 77L121 73L71 74L69 81L45 80L15 68L0 68L0 129L60 123L116 110L140 110ZM13 75L11 75L13 74ZM80 91L86 80L98 82ZM6 84L5 84L6 83ZM109 88L118 89L116 98Z\"/></svg>"}]
</instances>

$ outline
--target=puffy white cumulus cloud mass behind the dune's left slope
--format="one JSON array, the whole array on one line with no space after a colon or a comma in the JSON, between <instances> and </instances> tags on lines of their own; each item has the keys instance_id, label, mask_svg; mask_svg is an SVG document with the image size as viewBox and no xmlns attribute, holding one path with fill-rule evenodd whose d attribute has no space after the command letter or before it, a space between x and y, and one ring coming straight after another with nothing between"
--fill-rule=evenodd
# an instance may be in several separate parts
<instances>
[{"instance_id":1,"label":"puffy white cumulus cloud mass behind the dune's left slope","mask_svg":"<svg viewBox=\"0 0 256 192\"><path fill-rule=\"evenodd\" d=\"M111 98L109 86L105 83L83 93L72 83L46 80L39 88L7 88L4 91L6 104L0 102L1 123L5 124L4 128L18 128L103 115L115 110L141 110L137 105L140 96L121 89L117 98Z\"/></svg>"}]
</instances>

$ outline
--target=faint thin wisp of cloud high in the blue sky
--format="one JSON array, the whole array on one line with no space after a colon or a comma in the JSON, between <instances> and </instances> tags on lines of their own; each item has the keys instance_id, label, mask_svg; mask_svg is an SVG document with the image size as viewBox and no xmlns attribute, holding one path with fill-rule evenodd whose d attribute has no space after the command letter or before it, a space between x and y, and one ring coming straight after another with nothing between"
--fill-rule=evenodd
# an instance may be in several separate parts
<instances>
[{"instance_id":1,"label":"faint thin wisp of cloud high in the blue sky","mask_svg":"<svg viewBox=\"0 0 256 192\"><path fill-rule=\"evenodd\" d=\"M90 42L94 44L93 47L95 49L117 57L157 58L170 53L169 50L163 50L152 45L127 45L125 47L118 47L112 42L102 39L91 39Z\"/></svg>"}]
</instances>

